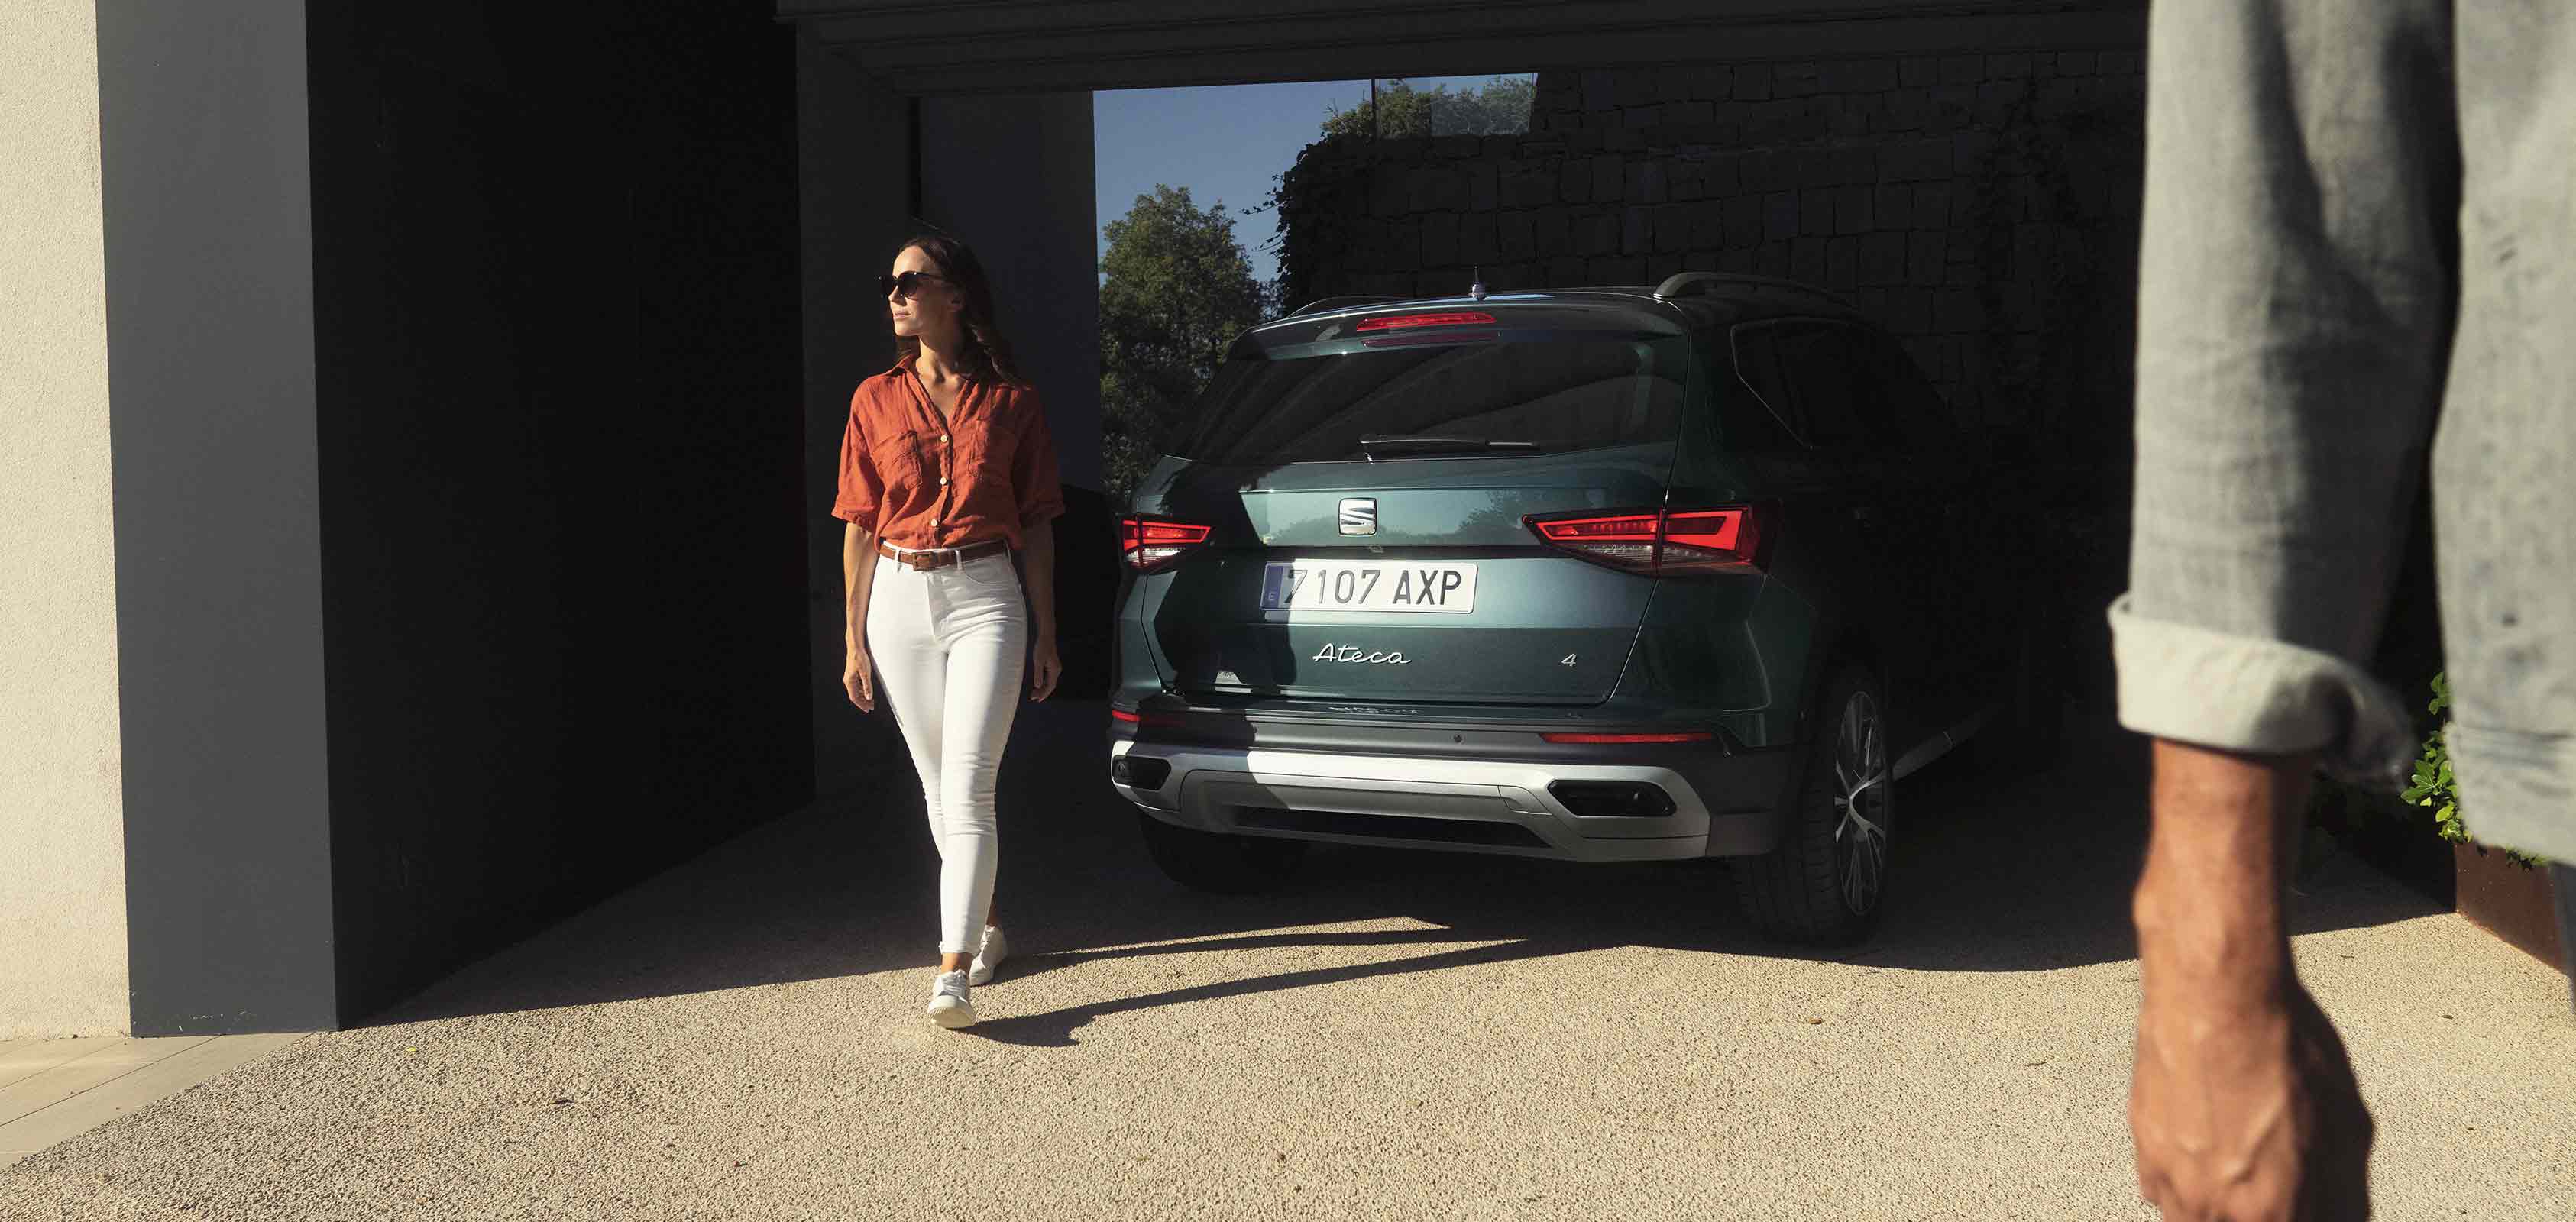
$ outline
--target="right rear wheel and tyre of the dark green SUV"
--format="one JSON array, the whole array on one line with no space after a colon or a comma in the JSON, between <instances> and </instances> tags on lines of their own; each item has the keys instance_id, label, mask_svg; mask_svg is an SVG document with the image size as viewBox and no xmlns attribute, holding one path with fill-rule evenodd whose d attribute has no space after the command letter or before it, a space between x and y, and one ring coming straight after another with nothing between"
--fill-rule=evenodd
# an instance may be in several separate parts
<instances>
[{"instance_id":1,"label":"right rear wheel and tyre of the dark green SUV","mask_svg":"<svg viewBox=\"0 0 2576 1222\"><path fill-rule=\"evenodd\" d=\"M1731 861L1731 874L1754 928L1788 941L1847 946L1865 938L1886 907L1896 812L1888 701L1868 670L1847 665L1826 686L1821 709L1780 843L1770 853ZM1870 773L1875 781L1860 784ZM1847 804L1852 789L1857 812Z\"/></svg>"}]
</instances>

